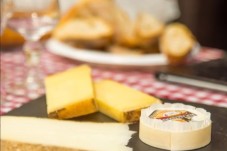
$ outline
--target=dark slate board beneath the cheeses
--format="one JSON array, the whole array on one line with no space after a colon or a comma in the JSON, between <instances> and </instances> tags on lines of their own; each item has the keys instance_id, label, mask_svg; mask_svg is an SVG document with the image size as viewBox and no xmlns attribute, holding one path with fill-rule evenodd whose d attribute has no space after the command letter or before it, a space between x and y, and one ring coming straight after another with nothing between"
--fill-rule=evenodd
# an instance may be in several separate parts
<instances>
[{"instance_id":1,"label":"dark slate board beneath the cheeses","mask_svg":"<svg viewBox=\"0 0 227 151\"><path fill-rule=\"evenodd\" d=\"M177 101L163 100L163 102L176 103ZM178 101L179 102L179 101ZM182 103L182 102L181 102ZM207 146L197 149L197 151L213 151L223 150L227 148L227 110L221 107L208 106L203 104L195 104L184 102L184 104L201 107L211 112L212 120L212 138L210 144ZM42 96L36 100L33 100L22 107L15 109L6 115L12 116L31 116L31 117L47 117L46 112L46 96ZM116 122L115 120L101 114L94 113L78 118L72 118L69 120L76 121L92 121L92 122ZM128 146L133 148L134 151L162 151L162 149L154 148L152 146L144 144L138 136L139 124L130 124L130 129L136 131L136 133L130 139Z\"/></svg>"}]
</instances>

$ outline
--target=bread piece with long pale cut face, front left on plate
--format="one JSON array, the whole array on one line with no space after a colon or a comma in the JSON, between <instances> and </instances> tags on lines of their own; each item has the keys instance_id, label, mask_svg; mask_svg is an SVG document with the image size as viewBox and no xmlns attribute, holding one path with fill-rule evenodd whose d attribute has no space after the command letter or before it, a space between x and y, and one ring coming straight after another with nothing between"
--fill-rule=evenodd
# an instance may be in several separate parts
<instances>
[{"instance_id":1,"label":"bread piece with long pale cut face, front left on plate","mask_svg":"<svg viewBox=\"0 0 227 151\"><path fill-rule=\"evenodd\" d=\"M102 48L111 42L112 34L112 28L105 21L89 17L68 20L54 31L53 37L65 42L74 41L82 47Z\"/></svg>"}]
</instances>

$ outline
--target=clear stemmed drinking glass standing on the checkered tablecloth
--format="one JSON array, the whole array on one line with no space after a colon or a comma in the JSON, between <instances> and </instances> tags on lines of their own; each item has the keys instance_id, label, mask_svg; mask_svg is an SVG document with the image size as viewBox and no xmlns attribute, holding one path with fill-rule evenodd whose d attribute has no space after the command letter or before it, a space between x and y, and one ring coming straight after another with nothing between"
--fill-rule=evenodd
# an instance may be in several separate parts
<instances>
[{"instance_id":1,"label":"clear stemmed drinking glass standing on the checkered tablecloth","mask_svg":"<svg viewBox=\"0 0 227 151\"><path fill-rule=\"evenodd\" d=\"M42 45L40 38L53 30L59 19L58 0L11 0L11 16L7 22L9 28L25 38L23 51L27 73L24 80L17 82L10 90L16 95L35 98L34 91L43 88L43 78L39 68ZM32 92L32 95L29 95Z\"/></svg>"}]
</instances>

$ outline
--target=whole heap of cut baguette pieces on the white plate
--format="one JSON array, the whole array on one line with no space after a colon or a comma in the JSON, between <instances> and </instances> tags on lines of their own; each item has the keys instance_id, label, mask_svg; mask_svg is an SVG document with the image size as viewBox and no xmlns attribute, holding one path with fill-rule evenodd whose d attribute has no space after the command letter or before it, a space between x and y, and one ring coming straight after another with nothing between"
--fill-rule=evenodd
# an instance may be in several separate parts
<instances>
[{"instance_id":1,"label":"whole heap of cut baguette pieces on the white plate","mask_svg":"<svg viewBox=\"0 0 227 151\"><path fill-rule=\"evenodd\" d=\"M53 37L76 47L123 55L161 52L170 64L182 63L196 43L183 24L165 27L146 12L138 12L133 20L114 0L80 0L63 16Z\"/></svg>"}]
</instances>

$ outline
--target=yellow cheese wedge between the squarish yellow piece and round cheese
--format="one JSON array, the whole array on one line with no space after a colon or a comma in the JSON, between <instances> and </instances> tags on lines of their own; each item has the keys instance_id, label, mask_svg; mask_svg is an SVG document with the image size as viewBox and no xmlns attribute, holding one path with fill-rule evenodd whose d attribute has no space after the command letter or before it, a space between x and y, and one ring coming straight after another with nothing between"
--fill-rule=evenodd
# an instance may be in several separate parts
<instances>
[{"instance_id":1,"label":"yellow cheese wedge between the squarish yellow piece and round cheese","mask_svg":"<svg viewBox=\"0 0 227 151\"><path fill-rule=\"evenodd\" d=\"M120 122L139 120L140 111L160 100L123 84L103 80L95 83L99 111Z\"/></svg>"}]
</instances>

